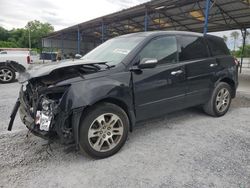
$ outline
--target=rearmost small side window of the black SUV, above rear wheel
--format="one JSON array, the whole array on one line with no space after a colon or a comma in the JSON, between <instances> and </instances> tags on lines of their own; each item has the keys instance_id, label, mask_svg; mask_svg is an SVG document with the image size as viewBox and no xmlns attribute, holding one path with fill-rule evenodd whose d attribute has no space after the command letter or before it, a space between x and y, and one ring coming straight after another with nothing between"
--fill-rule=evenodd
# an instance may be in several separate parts
<instances>
[{"instance_id":1,"label":"rearmost small side window of the black SUV, above rear wheel","mask_svg":"<svg viewBox=\"0 0 250 188\"><path fill-rule=\"evenodd\" d=\"M230 55L227 45L223 39L217 37L209 37L207 39L212 56Z\"/></svg>"}]
</instances>

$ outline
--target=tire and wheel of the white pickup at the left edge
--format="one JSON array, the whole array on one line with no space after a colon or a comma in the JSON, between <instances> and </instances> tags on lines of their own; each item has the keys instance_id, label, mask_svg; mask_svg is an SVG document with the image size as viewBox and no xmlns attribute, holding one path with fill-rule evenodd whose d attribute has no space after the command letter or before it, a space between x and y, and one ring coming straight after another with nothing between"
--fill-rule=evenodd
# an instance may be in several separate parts
<instances>
[{"instance_id":1,"label":"tire and wheel of the white pickup at the left edge","mask_svg":"<svg viewBox=\"0 0 250 188\"><path fill-rule=\"evenodd\" d=\"M0 83L11 83L16 79L15 71L8 66L0 66Z\"/></svg>"}]
</instances>

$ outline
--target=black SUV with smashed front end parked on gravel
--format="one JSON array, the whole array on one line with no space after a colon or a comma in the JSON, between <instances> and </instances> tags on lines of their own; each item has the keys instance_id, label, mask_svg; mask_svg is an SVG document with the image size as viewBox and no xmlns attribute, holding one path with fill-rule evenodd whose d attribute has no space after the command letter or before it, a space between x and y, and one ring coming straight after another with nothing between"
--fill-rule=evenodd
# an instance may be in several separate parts
<instances>
[{"instance_id":1,"label":"black SUV with smashed front end parked on gravel","mask_svg":"<svg viewBox=\"0 0 250 188\"><path fill-rule=\"evenodd\" d=\"M8 129L19 109L34 134L75 143L95 158L118 152L142 120L198 105L223 116L238 85L223 39L177 31L116 37L79 60L25 72L19 81Z\"/></svg>"}]
</instances>

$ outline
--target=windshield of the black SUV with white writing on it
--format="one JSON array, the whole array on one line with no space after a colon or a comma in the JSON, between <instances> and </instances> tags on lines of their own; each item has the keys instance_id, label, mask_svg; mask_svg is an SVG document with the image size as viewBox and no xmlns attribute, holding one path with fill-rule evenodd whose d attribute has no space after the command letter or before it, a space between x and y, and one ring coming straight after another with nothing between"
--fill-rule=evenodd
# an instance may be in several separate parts
<instances>
[{"instance_id":1,"label":"windshield of the black SUV with white writing on it","mask_svg":"<svg viewBox=\"0 0 250 188\"><path fill-rule=\"evenodd\" d=\"M81 59L107 62L109 65L117 65L131 52L144 38L120 37L106 41L93 49Z\"/></svg>"}]
</instances>

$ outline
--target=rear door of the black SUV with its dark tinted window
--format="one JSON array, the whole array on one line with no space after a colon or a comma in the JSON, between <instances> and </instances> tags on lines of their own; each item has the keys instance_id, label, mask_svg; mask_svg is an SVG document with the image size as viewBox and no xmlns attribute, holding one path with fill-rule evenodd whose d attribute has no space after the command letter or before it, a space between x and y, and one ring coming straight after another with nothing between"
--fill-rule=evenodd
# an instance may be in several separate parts
<instances>
[{"instance_id":1,"label":"rear door of the black SUV with its dark tinted window","mask_svg":"<svg viewBox=\"0 0 250 188\"><path fill-rule=\"evenodd\" d=\"M179 61L185 64L187 77L187 106L206 102L213 88L213 77L218 64L210 57L203 37L178 36Z\"/></svg>"}]
</instances>

